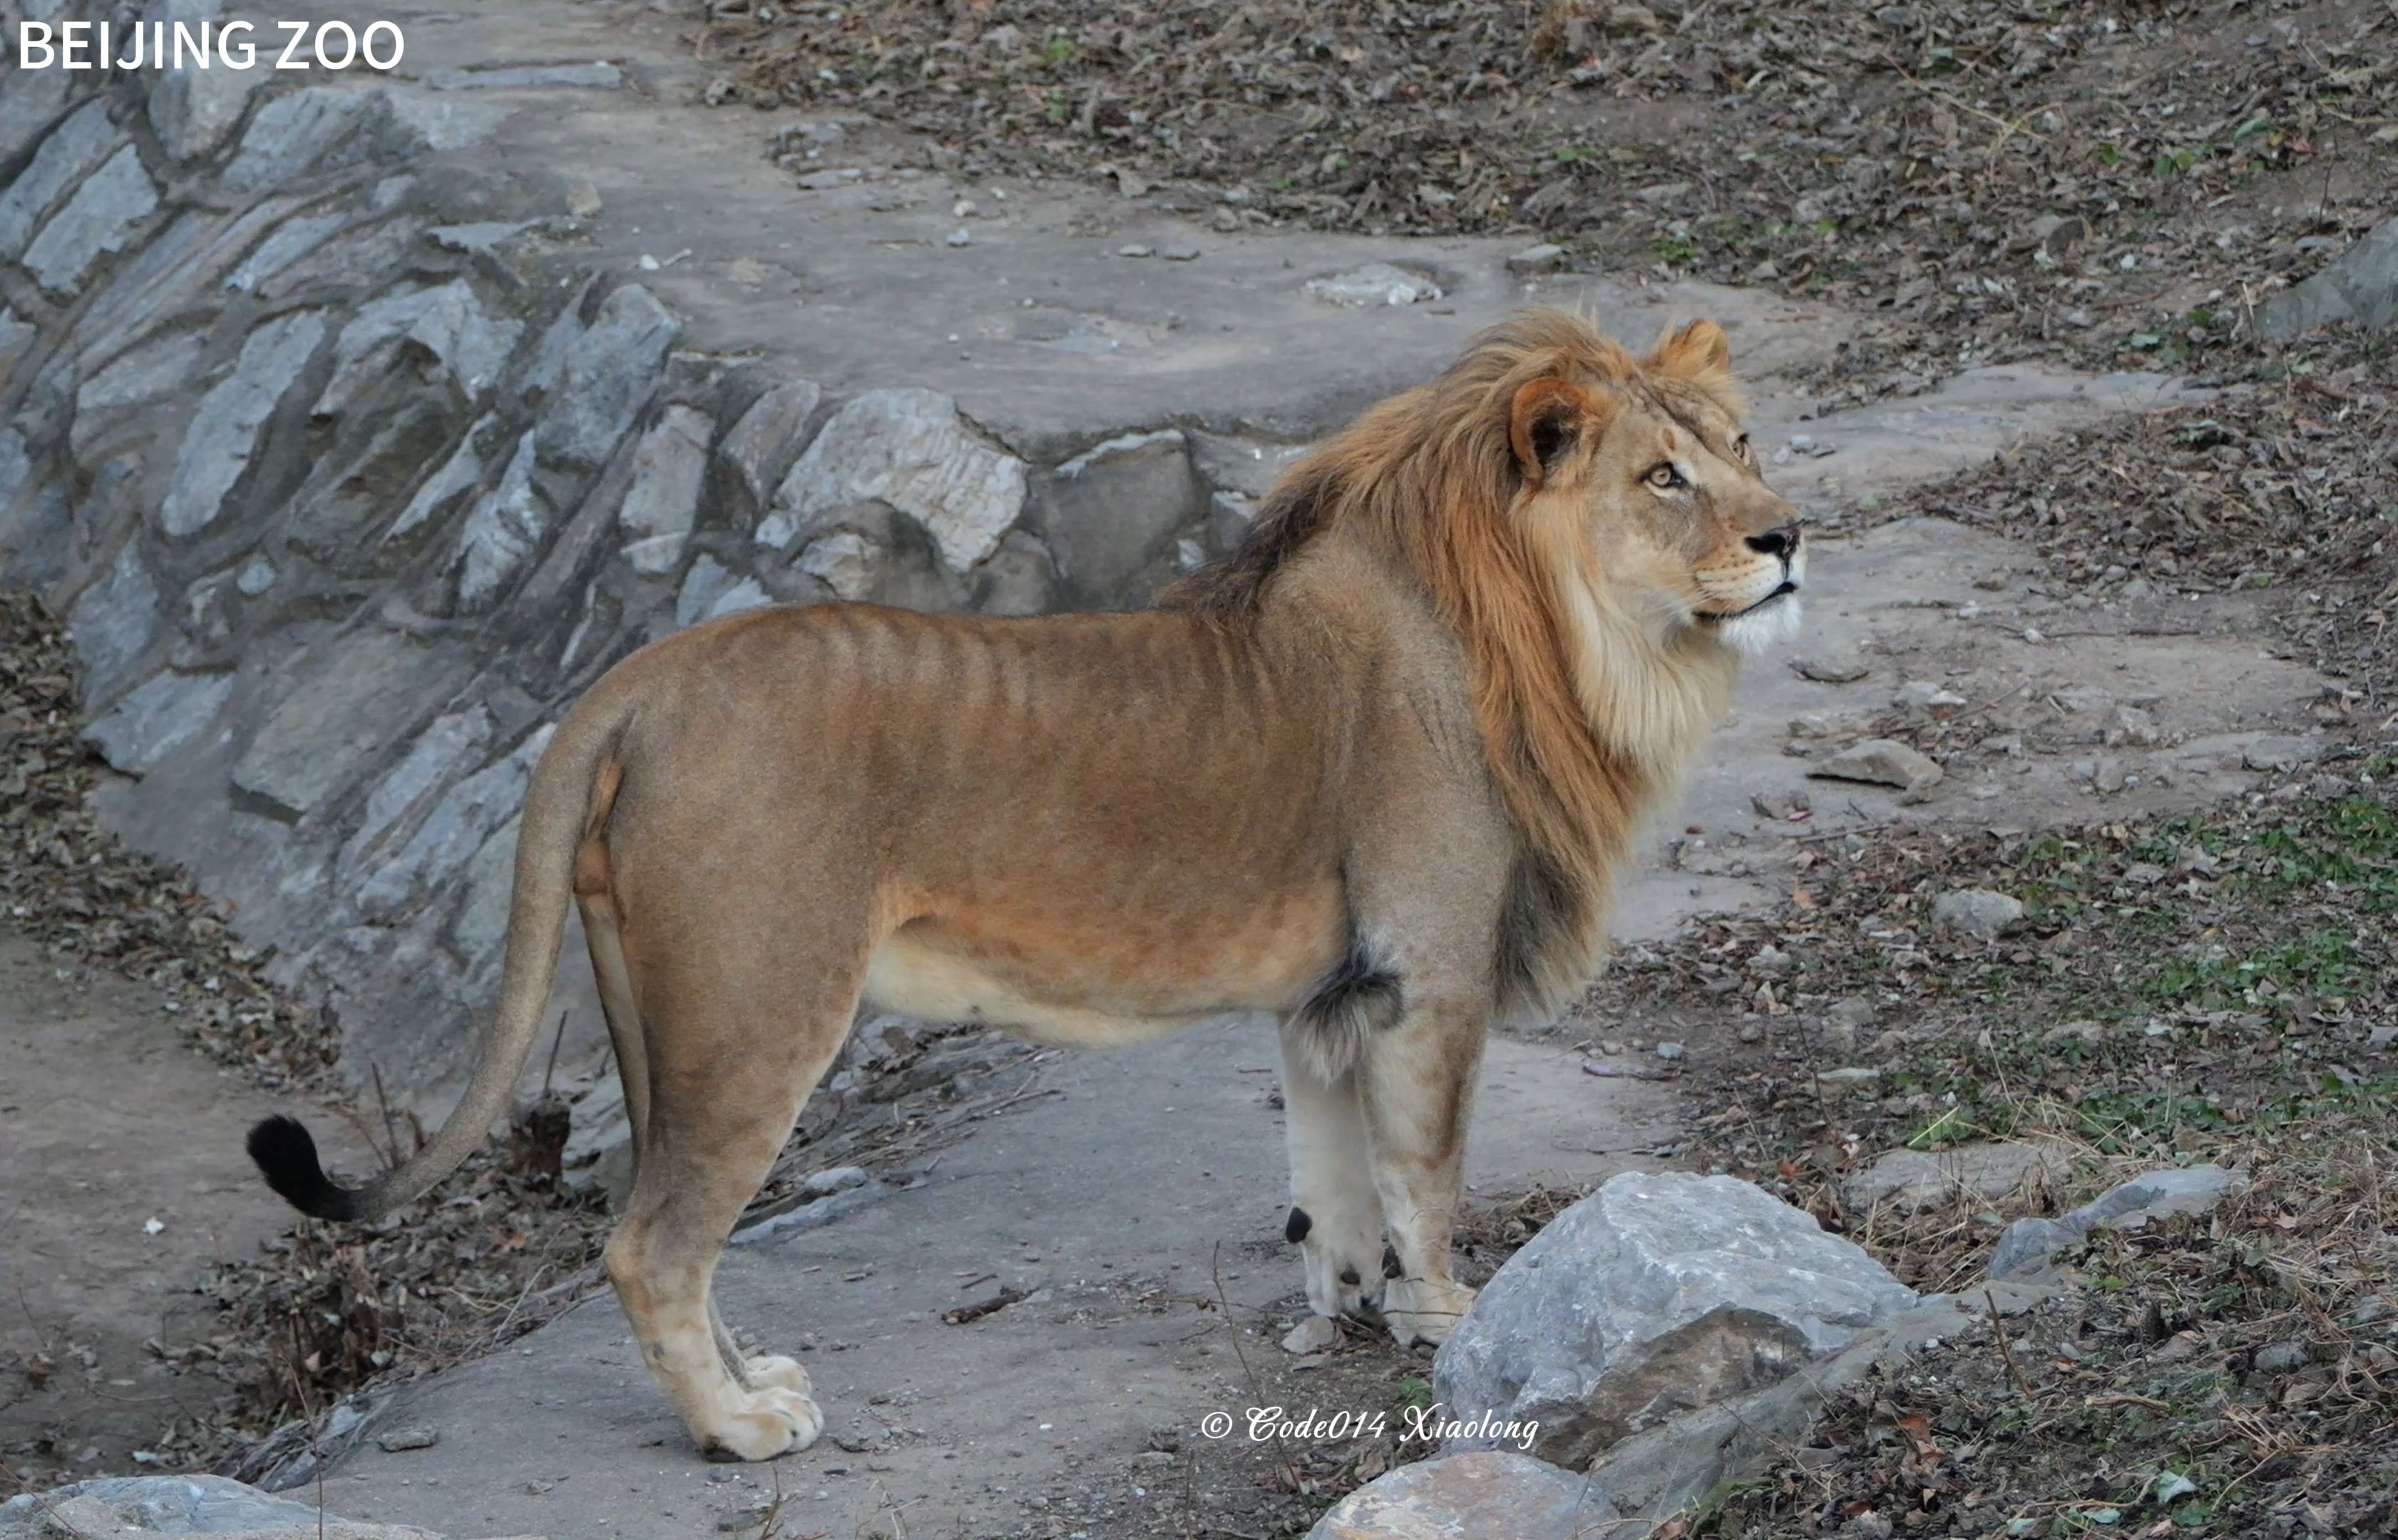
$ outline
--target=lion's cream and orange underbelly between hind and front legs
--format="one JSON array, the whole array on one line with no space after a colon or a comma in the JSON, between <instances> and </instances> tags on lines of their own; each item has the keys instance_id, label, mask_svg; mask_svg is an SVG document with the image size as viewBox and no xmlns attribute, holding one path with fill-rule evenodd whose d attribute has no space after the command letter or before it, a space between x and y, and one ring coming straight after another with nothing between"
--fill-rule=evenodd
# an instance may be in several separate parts
<instances>
[{"instance_id":1,"label":"lion's cream and orange underbelly between hind and front legs","mask_svg":"<svg viewBox=\"0 0 2398 1540\"><path fill-rule=\"evenodd\" d=\"M1204 936L1141 936L1122 919L1081 936L978 919L976 933L902 926L868 960L866 998L1050 1043L1137 1043L1216 1015L1290 1010L1338 962L1348 924L1333 892Z\"/></svg>"}]
</instances>

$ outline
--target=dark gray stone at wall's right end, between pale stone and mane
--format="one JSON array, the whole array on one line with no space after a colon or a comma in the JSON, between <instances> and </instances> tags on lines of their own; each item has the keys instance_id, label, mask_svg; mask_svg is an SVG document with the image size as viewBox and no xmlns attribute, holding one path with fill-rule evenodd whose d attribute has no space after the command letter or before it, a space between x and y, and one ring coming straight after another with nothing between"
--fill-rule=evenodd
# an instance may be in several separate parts
<instances>
[{"instance_id":1,"label":"dark gray stone at wall's right end, between pale stone and mane","mask_svg":"<svg viewBox=\"0 0 2398 1540\"><path fill-rule=\"evenodd\" d=\"M1074 456L1034 492L1034 523L1067 585L1134 604L1173 576L1175 535L1206 518L1209 489L1180 429L1127 434Z\"/></svg>"}]
</instances>

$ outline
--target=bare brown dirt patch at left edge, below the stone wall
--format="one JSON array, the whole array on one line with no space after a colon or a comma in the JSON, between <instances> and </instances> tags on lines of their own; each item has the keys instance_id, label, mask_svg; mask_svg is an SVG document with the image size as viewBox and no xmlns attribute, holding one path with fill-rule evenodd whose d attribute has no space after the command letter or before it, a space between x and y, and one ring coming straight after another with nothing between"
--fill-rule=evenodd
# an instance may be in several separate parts
<instances>
[{"instance_id":1,"label":"bare brown dirt patch at left edge, below the stone wall","mask_svg":"<svg viewBox=\"0 0 2398 1540\"><path fill-rule=\"evenodd\" d=\"M235 1386L153 1343L213 1336L204 1274L290 1228L242 1135L295 1101L192 1053L173 998L10 928L0 1000L0 1463L31 1485L180 1468Z\"/></svg>"}]
</instances>

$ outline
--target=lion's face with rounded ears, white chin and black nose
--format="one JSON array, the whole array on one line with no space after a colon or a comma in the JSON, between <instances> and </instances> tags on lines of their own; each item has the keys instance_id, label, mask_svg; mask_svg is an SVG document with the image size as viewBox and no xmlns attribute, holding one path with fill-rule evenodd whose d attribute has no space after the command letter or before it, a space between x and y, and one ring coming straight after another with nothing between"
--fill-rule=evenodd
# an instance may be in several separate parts
<instances>
[{"instance_id":1,"label":"lion's face with rounded ears, white chin and black nose","mask_svg":"<svg viewBox=\"0 0 2398 1540\"><path fill-rule=\"evenodd\" d=\"M1806 537L1758 470L1729 343L1693 321L1640 362L1631 381L1540 381L1518 396L1520 444L1540 468L1532 497L1585 533L1616 604L1765 652L1798 626Z\"/></svg>"}]
</instances>

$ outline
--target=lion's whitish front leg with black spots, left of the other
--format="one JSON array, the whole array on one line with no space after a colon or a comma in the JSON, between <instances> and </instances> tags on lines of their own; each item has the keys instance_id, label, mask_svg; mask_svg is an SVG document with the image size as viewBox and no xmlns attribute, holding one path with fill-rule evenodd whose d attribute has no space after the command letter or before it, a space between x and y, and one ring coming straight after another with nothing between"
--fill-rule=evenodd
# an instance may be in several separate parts
<instances>
[{"instance_id":1,"label":"lion's whitish front leg with black spots, left of the other","mask_svg":"<svg viewBox=\"0 0 2398 1540\"><path fill-rule=\"evenodd\" d=\"M1307 1259L1307 1305L1328 1317L1381 1305L1381 1197L1357 1077L1326 1082L1293 1027L1283 1027L1283 1127L1290 1139L1283 1238Z\"/></svg>"}]
</instances>

